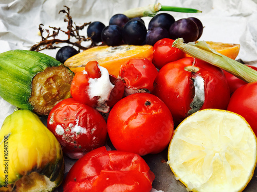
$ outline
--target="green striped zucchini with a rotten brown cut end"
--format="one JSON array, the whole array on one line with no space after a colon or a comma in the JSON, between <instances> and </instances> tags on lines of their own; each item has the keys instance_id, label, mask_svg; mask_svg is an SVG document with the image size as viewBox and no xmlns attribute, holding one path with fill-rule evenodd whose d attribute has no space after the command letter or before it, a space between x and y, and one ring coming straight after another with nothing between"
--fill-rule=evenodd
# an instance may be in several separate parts
<instances>
[{"instance_id":1,"label":"green striped zucchini with a rotten brown cut end","mask_svg":"<svg viewBox=\"0 0 257 192\"><path fill-rule=\"evenodd\" d=\"M0 96L20 109L48 115L70 97L74 73L44 53L11 50L0 54Z\"/></svg>"}]
</instances>

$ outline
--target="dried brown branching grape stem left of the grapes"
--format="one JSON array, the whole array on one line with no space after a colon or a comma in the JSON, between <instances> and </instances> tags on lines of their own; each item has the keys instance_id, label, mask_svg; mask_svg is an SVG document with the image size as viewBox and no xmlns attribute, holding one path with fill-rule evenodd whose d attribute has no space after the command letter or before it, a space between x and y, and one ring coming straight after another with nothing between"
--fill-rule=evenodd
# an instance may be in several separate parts
<instances>
[{"instance_id":1,"label":"dried brown branching grape stem left of the grapes","mask_svg":"<svg viewBox=\"0 0 257 192\"><path fill-rule=\"evenodd\" d=\"M63 31L63 30L61 30L61 28L49 27L49 28L53 29L52 34L50 34L49 30L46 29L45 31L47 32L47 36L44 37L43 36L44 29L42 28L42 26L44 26L44 25L40 24L39 25L39 31L40 31L40 34L41 34L42 41L40 41L38 44L33 45L30 48L30 51L42 51L44 49L56 49L58 47L53 46L53 45L54 44L59 44L59 43L67 43L67 44L70 44L72 46L76 46L76 47L79 48L79 50L81 50L81 49L86 50L86 49L89 49L90 47L95 46L93 44L93 42L91 42L91 45L89 47L82 46L81 42L88 41L88 40L91 40L91 39L86 38L85 36L79 34L79 31L83 30L84 27L89 25L91 22L84 23L82 26L77 26L72 21L72 17L69 14L69 8L67 6L64 6L64 7L66 7L67 11L66 10L61 10L61 11L59 11L59 14L61 12L66 13L67 18L64 19L64 22L67 22L67 31ZM63 32L66 35L68 35L68 38L64 39L64 40L56 38L60 32ZM75 37L77 39L77 41L72 42L70 40L71 37ZM51 39L49 39L49 38L51 38Z\"/></svg>"}]
</instances>

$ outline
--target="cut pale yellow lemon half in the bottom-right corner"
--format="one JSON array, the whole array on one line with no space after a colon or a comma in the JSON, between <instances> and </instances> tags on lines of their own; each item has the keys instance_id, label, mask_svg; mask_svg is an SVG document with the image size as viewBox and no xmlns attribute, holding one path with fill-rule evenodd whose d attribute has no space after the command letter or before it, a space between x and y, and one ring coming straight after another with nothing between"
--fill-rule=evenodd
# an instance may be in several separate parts
<instances>
[{"instance_id":1,"label":"cut pale yellow lemon half in the bottom-right corner","mask_svg":"<svg viewBox=\"0 0 257 192\"><path fill-rule=\"evenodd\" d=\"M202 110L177 127L168 163L190 191L242 191L253 176L256 145L256 136L242 116Z\"/></svg>"}]
</instances>

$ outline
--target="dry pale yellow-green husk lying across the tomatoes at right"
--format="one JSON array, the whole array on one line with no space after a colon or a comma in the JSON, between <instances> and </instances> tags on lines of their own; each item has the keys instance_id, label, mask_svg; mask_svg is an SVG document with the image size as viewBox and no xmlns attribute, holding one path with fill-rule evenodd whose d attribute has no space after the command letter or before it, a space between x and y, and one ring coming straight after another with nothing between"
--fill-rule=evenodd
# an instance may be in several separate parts
<instances>
[{"instance_id":1,"label":"dry pale yellow-green husk lying across the tomatoes at right","mask_svg":"<svg viewBox=\"0 0 257 192\"><path fill-rule=\"evenodd\" d=\"M196 44L194 42L184 44L182 38L177 38L173 42L173 47L180 49L192 57L204 60L216 67L226 70L246 82L257 81L257 71L216 52L214 49L211 49L205 41L199 41Z\"/></svg>"}]
</instances>

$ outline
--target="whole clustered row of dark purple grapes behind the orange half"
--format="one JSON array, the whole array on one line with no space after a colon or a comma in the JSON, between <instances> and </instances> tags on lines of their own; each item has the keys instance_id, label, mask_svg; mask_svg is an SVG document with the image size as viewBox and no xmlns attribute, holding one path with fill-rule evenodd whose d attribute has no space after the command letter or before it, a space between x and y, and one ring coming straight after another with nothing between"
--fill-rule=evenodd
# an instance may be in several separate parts
<instances>
[{"instance_id":1,"label":"whole clustered row of dark purple grapes behind the orange half","mask_svg":"<svg viewBox=\"0 0 257 192\"><path fill-rule=\"evenodd\" d=\"M203 24L195 17L175 18L168 13L155 15L148 29L142 18L128 18L124 14L115 14L109 19L109 25L93 22L87 28L87 36L93 42L103 42L108 46L154 45L162 38L183 38L184 42L196 41L203 34Z\"/></svg>"}]
</instances>

